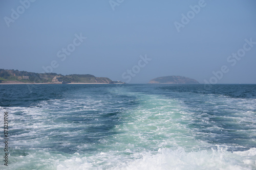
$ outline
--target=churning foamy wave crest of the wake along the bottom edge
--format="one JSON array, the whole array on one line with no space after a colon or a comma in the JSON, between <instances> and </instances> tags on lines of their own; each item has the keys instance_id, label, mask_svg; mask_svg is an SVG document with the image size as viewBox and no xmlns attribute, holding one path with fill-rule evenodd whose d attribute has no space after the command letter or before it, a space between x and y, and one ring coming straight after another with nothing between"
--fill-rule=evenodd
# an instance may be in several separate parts
<instances>
[{"instance_id":1,"label":"churning foamy wave crest of the wake along the bottom edge","mask_svg":"<svg viewBox=\"0 0 256 170\"><path fill-rule=\"evenodd\" d=\"M128 151L126 151L128 152ZM117 151L96 155L72 155L36 151L26 156L12 156L9 169L255 169L256 148L229 152L218 150L186 152L159 149L157 152L141 152L122 155ZM0 165L3 168L3 165Z\"/></svg>"}]
</instances>

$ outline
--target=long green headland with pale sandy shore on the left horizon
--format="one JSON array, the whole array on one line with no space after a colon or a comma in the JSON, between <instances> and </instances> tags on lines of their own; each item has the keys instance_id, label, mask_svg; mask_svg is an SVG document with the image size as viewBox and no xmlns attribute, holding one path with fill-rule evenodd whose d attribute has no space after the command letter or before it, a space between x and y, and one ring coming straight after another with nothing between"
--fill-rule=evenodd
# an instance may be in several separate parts
<instances>
[{"instance_id":1,"label":"long green headland with pale sandy shore on the left horizon","mask_svg":"<svg viewBox=\"0 0 256 170\"><path fill-rule=\"evenodd\" d=\"M0 69L0 84L124 84L105 77L93 75L66 75L35 73L19 70Z\"/></svg>"}]
</instances>

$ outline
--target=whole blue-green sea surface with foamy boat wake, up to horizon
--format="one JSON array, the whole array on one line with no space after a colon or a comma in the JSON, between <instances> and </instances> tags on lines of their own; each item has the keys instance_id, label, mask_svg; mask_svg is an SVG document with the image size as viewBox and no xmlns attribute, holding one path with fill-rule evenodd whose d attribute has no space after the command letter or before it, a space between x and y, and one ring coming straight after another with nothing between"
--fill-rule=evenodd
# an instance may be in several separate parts
<instances>
[{"instance_id":1,"label":"whole blue-green sea surface with foamy boat wake, up to horizon","mask_svg":"<svg viewBox=\"0 0 256 170\"><path fill-rule=\"evenodd\" d=\"M0 119L0 169L256 169L252 84L0 85Z\"/></svg>"}]
</instances>

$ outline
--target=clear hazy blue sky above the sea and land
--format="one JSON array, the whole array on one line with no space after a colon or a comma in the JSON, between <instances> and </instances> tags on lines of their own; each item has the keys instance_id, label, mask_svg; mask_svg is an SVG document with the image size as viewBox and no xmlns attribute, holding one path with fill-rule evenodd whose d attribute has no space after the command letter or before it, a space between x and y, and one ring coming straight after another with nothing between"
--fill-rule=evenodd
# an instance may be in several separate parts
<instances>
[{"instance_id":1,"label":"clear hazy blue sky above the sea and land","mask_svg":"<svg viewBox=\"0 0 256 170\"><path fill-rule=\"evenodd\" d=\"M256 84L254 0L0 1L0 68Z\"/></svg>"}]
</instances>

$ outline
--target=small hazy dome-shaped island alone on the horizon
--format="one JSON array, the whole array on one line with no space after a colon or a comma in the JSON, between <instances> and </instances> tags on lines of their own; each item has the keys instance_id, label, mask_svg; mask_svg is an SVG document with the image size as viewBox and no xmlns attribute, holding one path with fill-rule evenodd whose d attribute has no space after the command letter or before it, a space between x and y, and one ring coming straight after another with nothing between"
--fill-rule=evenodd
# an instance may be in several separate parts
<instances>
[{"instance_id":1,"label":"small hazy dome-shaped island alone on the horizon","mask_svg":"<svg viewBox=\"0 0 256 170\"><path fill-rule=\"evenodd\" d=\"M150 84L199 84L195 79L182 76L166 76L152 79Z\"/></svg>"}]
</instances>

